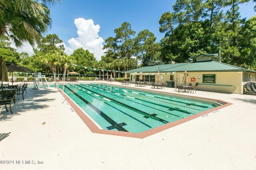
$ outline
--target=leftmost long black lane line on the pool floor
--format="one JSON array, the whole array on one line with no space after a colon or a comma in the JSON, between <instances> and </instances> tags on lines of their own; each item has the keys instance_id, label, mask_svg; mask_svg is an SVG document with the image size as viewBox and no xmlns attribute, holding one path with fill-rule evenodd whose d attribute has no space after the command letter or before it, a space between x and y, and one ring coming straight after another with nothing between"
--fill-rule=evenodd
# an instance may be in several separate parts
<instances>
[{"instance_id":1,"label":"leftmost long black lane line on the pool floor","mask_svg":"<svg viewBox=\"0 0 256 170\"><path fill-rule=\"evenodd\" d=\"M118 131L124 131L124 132L128 132L126 129L124 129L122 126L120 126L118 123L116 123L113 119L111 119L110 117L108 117L108 115L106 115L105 113L103 113L102 111L100 111L100 109L98 109L97 107L95 107L93 104L91 104L90 102L88 102L87 100L85 100L84 98L82 98L81 96L79 96L76 92L74 92L73 90L71 90L68 86L65 86L68 90L70 90L70 92L72 92L74 95L76 95L78 98L80 98L84 103L86 103L88 106L90 106L92 109L94 109L94 111L96 111L101 117L103 117L106 121L108 121L108 123L110 123L110 125L114 126Z\"/></svg>"}]
</instances>

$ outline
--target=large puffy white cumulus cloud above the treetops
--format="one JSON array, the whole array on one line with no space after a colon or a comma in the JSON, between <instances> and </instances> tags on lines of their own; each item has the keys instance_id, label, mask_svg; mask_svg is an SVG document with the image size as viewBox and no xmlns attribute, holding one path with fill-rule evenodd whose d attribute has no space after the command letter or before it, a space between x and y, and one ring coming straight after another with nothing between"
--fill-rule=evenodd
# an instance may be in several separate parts
<instances>
[{"instance_id":1,"label":"large puffy white cumulus cloud above the treetops","mask_svg":"<svg viewBox=\"0 0 256 170\"><path fill-rule=\"evenodd\" d=\"M93 20L85 20L84 18L75 19L78 37L68 40L69 45L65 47L66 53L71 54L75 49L83 47L94 53L96 60L104 55L102 43L104 40L98 35L100 25L94 25Z\"/></svg>"}]
</instances>

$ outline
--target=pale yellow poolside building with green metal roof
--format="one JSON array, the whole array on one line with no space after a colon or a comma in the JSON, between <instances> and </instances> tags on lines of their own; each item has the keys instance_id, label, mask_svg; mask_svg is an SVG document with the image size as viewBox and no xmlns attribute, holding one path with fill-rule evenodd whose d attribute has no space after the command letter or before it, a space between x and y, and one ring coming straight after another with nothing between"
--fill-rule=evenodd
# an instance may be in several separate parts
<instances>
[{"instance_id":1,"label":"pale yellow poolside building with green metal roof","mask_svg":"<svg viewBox=\"0 0 256 170\"><path fill-rule=\"evenodd\" d=\"M218 58L218 54L200 54L192 57L196 59L196 62L144 66L128 70L128 72L131 75L131 82L139 81L139 75L142 72L142 81L151 84L150 82L156 83L156 75L159 71L160 81L158 83L173 82L171 86L174 87L184 85L182 80L184 71L187 70L188 82L186 84L191 83L194 86L198 83L198 90L237 94L243 93L245 83L256 81L256 71L212 60Z\"/></svg>"}]
</instances>

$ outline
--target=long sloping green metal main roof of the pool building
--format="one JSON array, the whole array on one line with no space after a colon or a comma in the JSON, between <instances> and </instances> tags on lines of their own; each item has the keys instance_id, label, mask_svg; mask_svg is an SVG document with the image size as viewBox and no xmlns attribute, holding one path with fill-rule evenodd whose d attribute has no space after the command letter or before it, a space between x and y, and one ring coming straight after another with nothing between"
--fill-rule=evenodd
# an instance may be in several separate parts
<instances>
[{"instance_id":1,"label":"long sloping green metal main roof of the pool building","mask_svg":"<svg viewBox=\"0 0 256 170\"><path fill-rule=\"evenodd\" d=\"M175 63L175 64L163 64L163 65L154 65L154 66L144 66L141 68L136 68L129 70L128 72L202 72L202 71L248 71L246 68L232 66L230 64L220 63L218 61L198 61L193 63Z\"/></svg>"}]
</instances>

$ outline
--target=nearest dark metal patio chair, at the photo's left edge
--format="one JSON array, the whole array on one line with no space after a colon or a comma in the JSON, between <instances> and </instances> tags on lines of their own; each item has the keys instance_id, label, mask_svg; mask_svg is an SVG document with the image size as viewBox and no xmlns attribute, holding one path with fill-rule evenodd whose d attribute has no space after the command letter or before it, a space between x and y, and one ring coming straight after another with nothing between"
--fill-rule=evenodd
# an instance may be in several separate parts
<instances>
[{"instance_id":1,"label":"nearest dark metal patio chair, at the photo's left edge","mask_svg":"<svg viewBox=\"0 0 256 170\"><path fill-rule=\"evenodd\" d=\"M7 105L10 105L10 111L12 112L12 100L15 99L15 95L16 95L16 89L14 90L3 90L1 93L1 98L0 98L0 106L5 106L6 111L8 111L7 109Z\"/></svg>"}]
</instances>

